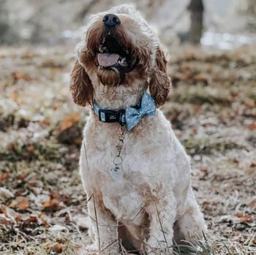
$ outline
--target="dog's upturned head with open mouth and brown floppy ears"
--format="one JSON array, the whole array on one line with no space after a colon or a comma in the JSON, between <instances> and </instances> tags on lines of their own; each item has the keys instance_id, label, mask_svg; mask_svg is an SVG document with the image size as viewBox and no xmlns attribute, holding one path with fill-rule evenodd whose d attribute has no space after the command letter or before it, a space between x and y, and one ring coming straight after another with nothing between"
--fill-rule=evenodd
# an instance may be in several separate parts
<instances>
[{"instance_id":1,"label":"dog's upturned head with open mouth and brown floppy ears","mask_svg":"<svg viewBox=\"0 0 256 255\"><path fill-rule=\"evenodd\" d=\"M170 90L167 60L154 32L128 5L92 15L77 47L71 91L76 104L92 104L94 89L105 86L148 86L157 106Z\"/></svg>"}]
</instances>

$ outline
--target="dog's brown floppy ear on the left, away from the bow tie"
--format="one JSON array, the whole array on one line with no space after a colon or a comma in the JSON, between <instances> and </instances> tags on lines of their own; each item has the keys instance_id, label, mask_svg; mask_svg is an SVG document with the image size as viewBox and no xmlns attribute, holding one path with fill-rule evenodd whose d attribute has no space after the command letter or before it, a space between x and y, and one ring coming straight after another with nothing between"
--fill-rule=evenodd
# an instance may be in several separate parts
<instances>
[{"instance_id":1,"label":"dog's brown floppy ear on the left, away from the bow tie","mask_svg":"<svg viewBox=\"0 0 256 255\"><path fill-rule=\"evenodd\" d=\"M70 90L75 104L93 104L94 87L84 67L76 59L71 72Z\"/></svg>"}]
</instances>

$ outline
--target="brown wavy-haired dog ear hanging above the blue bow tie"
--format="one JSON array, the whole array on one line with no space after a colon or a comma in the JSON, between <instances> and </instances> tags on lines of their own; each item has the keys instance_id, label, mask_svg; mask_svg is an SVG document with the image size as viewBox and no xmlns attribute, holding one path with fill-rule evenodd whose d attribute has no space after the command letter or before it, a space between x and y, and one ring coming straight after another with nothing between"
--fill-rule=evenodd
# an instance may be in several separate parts
<instances>
[{"instance_id":1,"label":"brown wavy-haired dog ear hanging above the blue bow tie","mask_svg":"<svg viewBox=\"0 0 256 255\"><path fill-rule=\"evenodd\" d=\"M167 76L167 59L162 48L157 47L156 64L153 69L151 80L149 81L149 91L157 107L165 104L170 91L170 79Z\"/></svg>"}]
</instances>

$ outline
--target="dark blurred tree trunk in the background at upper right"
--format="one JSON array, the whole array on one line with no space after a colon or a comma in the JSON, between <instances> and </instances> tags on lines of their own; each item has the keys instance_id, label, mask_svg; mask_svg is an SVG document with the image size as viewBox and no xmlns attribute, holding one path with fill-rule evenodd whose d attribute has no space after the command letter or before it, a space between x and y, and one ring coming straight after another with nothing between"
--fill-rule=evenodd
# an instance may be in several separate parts
<instances>
[{"instance_id":1,"label":"dark blurred tree trunk in the background at upper right","mask_svg":"<svg viewBox=\"0 0 256 255\"><path fill-rule=\"evenodd\" d=\"M203 0L191 0L188 6L190 12L189 41L197 45L203 33Z\"/></svg>"}]
</instances>

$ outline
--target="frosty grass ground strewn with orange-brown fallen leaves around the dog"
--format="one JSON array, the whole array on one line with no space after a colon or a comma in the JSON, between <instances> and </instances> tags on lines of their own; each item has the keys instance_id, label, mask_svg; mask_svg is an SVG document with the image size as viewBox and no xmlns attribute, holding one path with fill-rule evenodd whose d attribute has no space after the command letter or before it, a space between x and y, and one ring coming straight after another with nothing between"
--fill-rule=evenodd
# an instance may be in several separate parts
<instances>
[{"instance_id":1,"label":"frosty grass ground strewn with orange-brown fallen leaves around the dog","mask_svg":"<svg viewBox=\"0 0 256 255\"><path fill-rule=\"evenodd\" d=\"M0 47L0 254L70 255L88 243L78 175L88 110L69 93L73 53ZM211 247L201 254L255 254L256 49L170 48L169 75L162 110L192 157Z\"/></svg>"}]
</instances>

